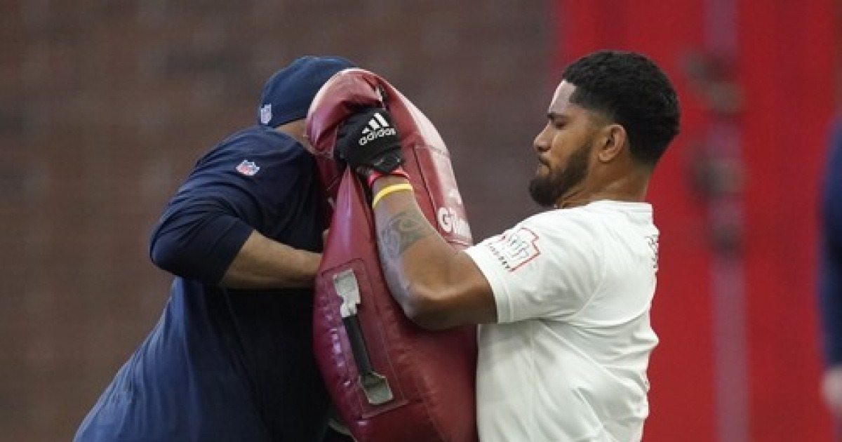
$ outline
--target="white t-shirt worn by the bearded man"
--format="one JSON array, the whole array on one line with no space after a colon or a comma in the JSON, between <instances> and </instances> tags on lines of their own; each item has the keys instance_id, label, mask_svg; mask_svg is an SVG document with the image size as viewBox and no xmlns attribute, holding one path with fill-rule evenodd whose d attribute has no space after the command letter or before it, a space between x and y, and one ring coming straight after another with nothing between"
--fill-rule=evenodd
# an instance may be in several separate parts
<instances>
[{"instance_id":1,"label":"white t-shirt worn by the bearded man","mask_svg":"<svg viewBox=\"0 0 842 442\"><path fill-rule=\"evenodd\" d=\"M658 343L652 207L603 200L549 210L466 253L498 313L479 332L482 442L640 440Z\"/></svg>"}]
</instances>

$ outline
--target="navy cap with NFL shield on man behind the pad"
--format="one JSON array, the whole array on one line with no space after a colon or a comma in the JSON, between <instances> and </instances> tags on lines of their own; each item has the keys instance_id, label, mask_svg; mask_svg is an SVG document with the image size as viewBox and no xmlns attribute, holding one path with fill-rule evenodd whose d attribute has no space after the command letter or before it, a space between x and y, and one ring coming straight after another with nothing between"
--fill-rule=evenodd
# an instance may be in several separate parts
<instances>
[{"instance_id":1,"label":"navy cap with NFL shield on man behind the pad","mask_svg":"<svg viewBox=\"0 0 842 442\"><path fill-rule=\"evenodd\" d=\"M316 93L336 72L354 63L338 56L302 56L278 72L264 86L258 105L258 122L269 127L301 120Z\"/></svg>"}]
</instances>

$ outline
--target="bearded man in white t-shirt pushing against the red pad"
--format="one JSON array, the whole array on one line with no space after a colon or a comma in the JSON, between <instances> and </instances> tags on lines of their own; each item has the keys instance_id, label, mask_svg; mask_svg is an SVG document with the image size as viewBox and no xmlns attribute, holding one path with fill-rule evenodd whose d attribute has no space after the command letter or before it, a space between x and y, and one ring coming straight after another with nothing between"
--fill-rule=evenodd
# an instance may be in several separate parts
<instances>
[{"instance_id":1,"label":"bearded man in white t-shirt pushing against the red pad","mask_svg":"<svg viewBox=\"0 0 842 442\"><path fill-rule=\"evenodd\" d=\"M390 115L351 116L338 154L368 178L381 263L408 317L429 329L480 324L482 442L640 440L658 343L658 229L644 200L679 130L669 78L632 52L568 66L534 141L530 194L550 210L463 252L406 191L399 136L360 143L373 117Z\"/></svg>"}]
</instances>

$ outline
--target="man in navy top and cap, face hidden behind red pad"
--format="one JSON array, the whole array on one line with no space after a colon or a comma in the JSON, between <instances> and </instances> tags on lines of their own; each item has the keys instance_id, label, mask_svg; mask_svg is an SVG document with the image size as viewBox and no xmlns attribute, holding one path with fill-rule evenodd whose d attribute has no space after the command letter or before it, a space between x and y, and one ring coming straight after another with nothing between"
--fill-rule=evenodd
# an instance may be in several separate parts
<instances>
[{"instance_id":1,"label":"man in navy top and cap, face hidden behind red pad","mask_svg":"<svg viewBox=\"0 0 842 442\"><path fill-rule=\"evenodd\" d=\"M304 118L347 67L307 56L275 72L259 124L196 162L152 233L152 261L175 275L167 306L77 442L322 439L312 284L326 226Z\"/></svg>"}]
</instances>

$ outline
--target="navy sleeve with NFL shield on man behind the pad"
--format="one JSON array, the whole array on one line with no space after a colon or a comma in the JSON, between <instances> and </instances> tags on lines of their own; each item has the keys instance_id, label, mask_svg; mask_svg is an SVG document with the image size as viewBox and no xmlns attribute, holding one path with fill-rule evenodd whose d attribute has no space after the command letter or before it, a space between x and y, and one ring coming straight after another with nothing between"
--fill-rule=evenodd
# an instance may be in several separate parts
<instances>
[{"instance_id":1,"label":"navy sleeve with NFL shield on man behind the pad","mask_svg":"<svg viewBox=\"0 0 842 442\"><path fill-rule=\"evenodd\" d=\"M211 151L196 163L152 232L152 261L184 278L217 284L251 232L272 237L287 195L301 173L312 170L304 162L305 156L290 149L235 145Z\"/></svg>"}]
</instances>

